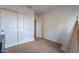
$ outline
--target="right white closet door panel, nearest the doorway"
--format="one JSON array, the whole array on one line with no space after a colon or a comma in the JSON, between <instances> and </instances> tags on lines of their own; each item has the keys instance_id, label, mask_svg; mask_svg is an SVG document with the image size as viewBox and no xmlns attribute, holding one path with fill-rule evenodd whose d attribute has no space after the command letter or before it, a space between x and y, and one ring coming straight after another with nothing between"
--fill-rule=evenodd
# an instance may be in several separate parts
<instances>
[{"instance_id":1,"label":"right white closet door panel, nearest the doorway","mask_svg":"<svg viewBox=\"0 0 79 59\"><path fill-rule=\"evenodd\" d=\"M27 14L18 14L19 44L34 39L34 20Z\"/></svg>"}]
</instances>

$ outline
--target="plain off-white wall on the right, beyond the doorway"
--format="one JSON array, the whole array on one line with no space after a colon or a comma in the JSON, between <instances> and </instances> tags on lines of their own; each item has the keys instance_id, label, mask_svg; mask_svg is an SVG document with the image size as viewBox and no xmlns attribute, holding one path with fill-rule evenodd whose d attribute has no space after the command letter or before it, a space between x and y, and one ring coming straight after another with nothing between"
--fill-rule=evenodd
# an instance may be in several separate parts
<instances>
[{"instance_id":1,"label":"plain off-white wall on the right, beyond the doorway","mask_svg":"<svg viewBox=\"0 0 79 59\"><path fill-rule=\"evenodd\" d=\"M63 44L67 51L70 34L79 15L79 6L62 6L43 15L43 37Z\"/></svg>"}]
</instances>

